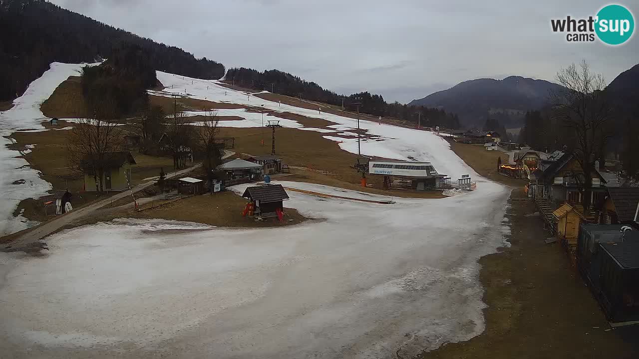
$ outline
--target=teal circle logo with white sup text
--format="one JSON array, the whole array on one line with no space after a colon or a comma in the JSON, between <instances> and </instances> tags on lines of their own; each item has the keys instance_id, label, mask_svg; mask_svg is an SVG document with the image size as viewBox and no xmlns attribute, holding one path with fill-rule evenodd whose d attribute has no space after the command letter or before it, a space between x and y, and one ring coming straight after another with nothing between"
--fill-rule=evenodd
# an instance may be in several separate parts
<instances>
[{"instance_id":1,"label":"teal circle logo with white sup text","mask_svg":"<svg viewBox=\"0 0 639 359\"><path fill-rule=\"evenodd\" d=\"M621 5L604 6L597 13L595 32L599 40L608 45L626 42L635 30L633 14Z\"/></svg>"}]
</instances>

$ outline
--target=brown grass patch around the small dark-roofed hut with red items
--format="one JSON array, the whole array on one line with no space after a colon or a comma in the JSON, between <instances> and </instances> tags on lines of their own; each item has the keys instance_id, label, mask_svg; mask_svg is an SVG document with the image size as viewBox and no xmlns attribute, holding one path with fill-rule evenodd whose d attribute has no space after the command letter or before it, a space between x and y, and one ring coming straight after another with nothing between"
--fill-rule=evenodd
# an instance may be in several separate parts
<instances>
[{"instance_id":1,"label":"brown grass patch around the small dark-roofed hut with red items","mask_svg":"<svg viewBox=\"0 0 639 359\"><path fill-rule=\"evenodd\" d=\"M306 219L293 208L284 208L284 222L273 218L256 222L254 218L242 216L246 204L246 199L231 191L224 191L213 195L194 195L158 208L139 212L130 211L128 214L135 218L185 220L222 227L271 227L299 224Z\"/></svg>"}]
</instances>

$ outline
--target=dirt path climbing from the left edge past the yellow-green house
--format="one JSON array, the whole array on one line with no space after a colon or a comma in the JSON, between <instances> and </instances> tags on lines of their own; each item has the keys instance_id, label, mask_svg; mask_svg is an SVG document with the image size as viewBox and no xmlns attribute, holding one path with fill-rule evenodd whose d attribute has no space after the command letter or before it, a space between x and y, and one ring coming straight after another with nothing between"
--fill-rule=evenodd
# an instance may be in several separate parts
<instances>
[{"instance_id":1,"label":"dirt path climbing from the left edge past the yellow-green house","mask_svg":"<svg viewBox=\"0 0 639 359\"><path fill-rule=\"evenodd\" d=\"M167 176L167 178L171 178L171 177L175 177L175 176L181 176L183 174L189 173L190 171L192 171L192 170L194 170L194 169L196 169L197 167L200 167L200 166L201 166L201 164L197 164L197 165L194 165L194 166L189 167L187 169L183 169L181 171L173 172L173 174L169 174L169 176ZM134 188L132 188L132 190L133 190L133 192L138 192L138 191L143 190L144 188L150 187L154 183L155 183L155 181L141 183L140 185L137 185ZM15 240L13 240L10 243L8 243L8 245L3 245L4 246L3 248L5 250L11 250L11 251L29 250L30 248L38 248L39 249L40 248L40 243L38 241L41 240L42 238L45 238L46 236L48 236L49 234L54 233L55 231L58 231L58 229L64 227L65 225L70 224L71 222L73 222L75 220L79 220L82 217L86 217L86 216L90 215L94 211L98 210L99 208L102 208L103 206L106 206L107 204L109 204L109 203L111 203L113 201L117 201L118 199L127 197L128 195L131 195L131 193L128 190L125 190L125 191L119 192L118 194L114 194L111 197L103 199L102 201L95 202L93 204L89 204L88 206L84 206L84 207L79 208L77 210L70 211L70 212L66 213L65 215L62 215L60 217L56 217L56 218L50 220L49 222L45 222L42 225L39 225L38 227L35 227L31 231L27 231L26 233L22 234L21 236L19 236ZM7 246L9 246L9 248L7 248Z\"/></svg>"}]
</instances>

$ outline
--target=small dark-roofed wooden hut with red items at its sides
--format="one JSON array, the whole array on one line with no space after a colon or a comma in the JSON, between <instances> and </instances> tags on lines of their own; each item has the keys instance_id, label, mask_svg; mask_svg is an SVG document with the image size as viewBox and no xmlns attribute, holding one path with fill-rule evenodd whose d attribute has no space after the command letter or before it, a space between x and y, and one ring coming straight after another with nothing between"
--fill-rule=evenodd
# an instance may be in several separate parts
<instances>
[{"instance_id":1,"label":"small dark-roofed wooden hut with red items at its sides","mask_svg":"<svg viewBox=\"0 0 639 359\"><path fill-rule=\"evenodd\" d=\"M252 212L259 218L279 217L280 220L284 214L283 202L289 199L282 185L247 187L242 197L250 201L244 215Z\"/></svg>"}]
</instances>

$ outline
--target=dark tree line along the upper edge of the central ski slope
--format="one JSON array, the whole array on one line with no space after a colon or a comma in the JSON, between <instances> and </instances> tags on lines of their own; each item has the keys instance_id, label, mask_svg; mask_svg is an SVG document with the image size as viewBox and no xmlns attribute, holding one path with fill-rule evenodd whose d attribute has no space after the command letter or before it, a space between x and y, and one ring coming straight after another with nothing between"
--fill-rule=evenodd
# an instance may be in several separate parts
<instances>
[{"instance_id":1,"label":"dark tree line along the upper edge of the central ski slope","mask_svg":"<svg viewBox=\"0 0 639 359\"><path fill-rule=\"evenodd\" d=\"M290 73L279 70L259 72L251 68L230 68L226 73L226 81L244 88L273 91L282 95L300 97L305 100L344 106L348 111L359 111L373 116L383 116L417 123L421 119L422 126L443 126L459 128L459 118L456 114L443 109L425 106L410 106L399 102L387 103L381 95L371 95L369 92L338 95L324 89L315 82L308 82Z\"/></svg>"}]
</instances>

